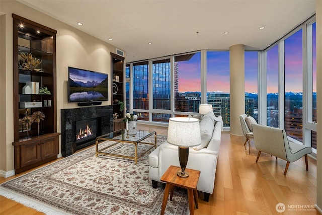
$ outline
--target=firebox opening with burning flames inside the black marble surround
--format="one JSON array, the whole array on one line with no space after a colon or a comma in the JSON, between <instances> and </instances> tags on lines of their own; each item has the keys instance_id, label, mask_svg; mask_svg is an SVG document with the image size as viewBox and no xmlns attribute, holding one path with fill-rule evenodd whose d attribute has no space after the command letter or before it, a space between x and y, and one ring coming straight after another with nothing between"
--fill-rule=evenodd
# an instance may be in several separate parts
<instances>
[{"instance_id":1,"label":"firebox opening with burning flames inside the black marble surround","mask_svg":"<svg viewBox=\"0 0 322 215\"><path fill-rule=\"evenodd\" d=\"M97 119L76 121L76 146L96 138Z\"/></svg>"}]
</instances>

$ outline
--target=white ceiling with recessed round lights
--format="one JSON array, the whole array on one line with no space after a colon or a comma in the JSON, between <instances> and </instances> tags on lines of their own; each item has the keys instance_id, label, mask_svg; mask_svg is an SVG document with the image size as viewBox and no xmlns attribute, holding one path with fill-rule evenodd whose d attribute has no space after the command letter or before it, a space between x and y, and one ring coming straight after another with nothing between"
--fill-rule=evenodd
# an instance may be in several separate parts
<instances>
[{"instance_id":1,"label":"white ceiling with recessed round lights","mask_svg":"<svg viewBox=\"0 0 322 215\"><path fill-rule=\"evenodd\" d=\"M126 62L235 44L263 50L315 13L315 0L19 2L118 47Z\"/></svg>"}]
</instances>

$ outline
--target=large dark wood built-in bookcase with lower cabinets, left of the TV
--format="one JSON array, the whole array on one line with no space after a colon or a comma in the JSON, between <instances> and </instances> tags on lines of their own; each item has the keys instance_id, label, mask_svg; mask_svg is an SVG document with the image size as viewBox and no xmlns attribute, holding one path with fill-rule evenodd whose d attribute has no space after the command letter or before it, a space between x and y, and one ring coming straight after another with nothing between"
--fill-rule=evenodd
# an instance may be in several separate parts
<instances>
[{"instance_id":1,"label":"large dark wood built-in bookcase with lower cabinets, left of the TV","mask_svg":"<svg viewBox=\"0 0 322 215\"><path fill-rule=\"evenodd\" d=\"M57 32L18 15L12 17L13 146L15 172L19 173L57 158ZM28 123L32 119L34 121Z\"/></svg>"}]
</instances>

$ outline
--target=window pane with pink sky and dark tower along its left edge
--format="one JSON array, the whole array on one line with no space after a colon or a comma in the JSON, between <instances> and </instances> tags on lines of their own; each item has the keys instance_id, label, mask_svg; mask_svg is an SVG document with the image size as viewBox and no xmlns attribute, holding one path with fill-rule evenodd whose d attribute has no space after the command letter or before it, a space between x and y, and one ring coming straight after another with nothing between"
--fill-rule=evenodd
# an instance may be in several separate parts
<instances>
[{"instance_id":1,"label":"window pane with pink sky and dark tower along its left edge","mask_svg":"<svg viewBox=\"0 0 322 215\"><path fill-rule=\"evenodd\" d=\"M200 52L175 56L175 111L198 112L201 99Z\"/></svg>"}]
</instances>

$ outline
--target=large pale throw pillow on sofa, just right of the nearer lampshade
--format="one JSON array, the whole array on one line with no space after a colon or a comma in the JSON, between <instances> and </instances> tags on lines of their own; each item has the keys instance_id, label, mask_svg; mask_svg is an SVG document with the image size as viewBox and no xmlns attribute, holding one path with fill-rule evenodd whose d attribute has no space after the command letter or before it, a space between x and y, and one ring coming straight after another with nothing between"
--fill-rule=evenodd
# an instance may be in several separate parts
<instances>
[{"instance_id":1,"label":"large pale throw pillow on sofa, just right of the nearer lampshade","mask_svg":"<svg viewBox=\"0 0 322 215\"><path fill-rule=\"evenodd\" d=\"M201 136L201 145L193 147L194 150L201 150L208 146L209 141L211 140L215 121L209 117L204 116L200 121L200 136Z\"/></svg>"}]
</instances>

